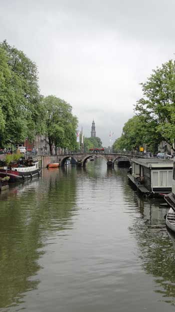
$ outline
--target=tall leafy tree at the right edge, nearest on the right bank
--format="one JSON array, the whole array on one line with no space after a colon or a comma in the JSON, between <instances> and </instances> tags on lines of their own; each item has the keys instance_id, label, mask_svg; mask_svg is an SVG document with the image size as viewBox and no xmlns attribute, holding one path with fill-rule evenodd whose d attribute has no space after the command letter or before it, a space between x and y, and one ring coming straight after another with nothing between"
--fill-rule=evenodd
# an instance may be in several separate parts
<instances>
[{"instance_id":1,"label":"tall leafy tree at the right edge, nearest on the right bank","mask_svg":"<svg viewBox=\"0 0 175 312\"><path fill-rule=\"evenodd\" d=\"M145 83L141 83L143 97L137 101L135 111L152 122L160 140L174 149L175 138L175 61L157 67Z\"/></svg>"}]
</instances>

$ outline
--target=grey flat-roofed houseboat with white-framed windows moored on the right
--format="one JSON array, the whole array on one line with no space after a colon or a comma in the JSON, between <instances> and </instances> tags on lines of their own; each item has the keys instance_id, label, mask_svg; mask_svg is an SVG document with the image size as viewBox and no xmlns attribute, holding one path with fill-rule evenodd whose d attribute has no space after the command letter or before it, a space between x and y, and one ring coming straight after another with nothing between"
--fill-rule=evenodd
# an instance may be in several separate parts
<instances>
[{"instance_id":1,"label":"grey flat-roofed houseboat with white-framed windows moored on the right","mask_svg":"<svg viewBox=\"0 0 175 312\"><path fill-rule=\"evenodd\" d=\"M173 161L156 158L131 159L129 181L145 196L171 192Z\"/></svg>"}]
</instances>

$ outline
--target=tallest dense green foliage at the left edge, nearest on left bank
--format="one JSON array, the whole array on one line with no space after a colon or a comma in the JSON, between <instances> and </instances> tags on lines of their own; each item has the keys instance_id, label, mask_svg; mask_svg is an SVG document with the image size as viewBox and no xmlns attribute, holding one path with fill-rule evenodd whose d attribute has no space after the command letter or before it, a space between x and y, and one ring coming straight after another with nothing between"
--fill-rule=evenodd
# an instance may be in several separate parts
<instances>
[{"instance_id":1,"label":"tallest dense green foliage at the left edge, nearest on left bank","mask_svg":"<svg viewBox=\"0 0 175 312\"><path fill-rule=\"evenodd\" d=\"M0 146L33 139L43 130L37 67L6 41L0 43Z\"/></svg>"}]
</instances>

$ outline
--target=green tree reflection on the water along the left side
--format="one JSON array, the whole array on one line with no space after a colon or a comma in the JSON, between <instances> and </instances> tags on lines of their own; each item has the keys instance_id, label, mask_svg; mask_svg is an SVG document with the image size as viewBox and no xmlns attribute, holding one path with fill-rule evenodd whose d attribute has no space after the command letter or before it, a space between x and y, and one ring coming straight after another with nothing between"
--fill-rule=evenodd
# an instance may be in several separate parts
<instances>
[{"instance_id":1,"label":"green tree reflection on the water along the left side","mask_svg":"<svg viewBox=\"0 0 175 312\"><path fill-rule=\"evenodd\" d=\"M71 178L67 178L71 174ZM42 171L42 178L0 195L0 307L18 305L39 283L38 259L48 232L72 227L76 174Z\"/></svg>"}]
</instances>

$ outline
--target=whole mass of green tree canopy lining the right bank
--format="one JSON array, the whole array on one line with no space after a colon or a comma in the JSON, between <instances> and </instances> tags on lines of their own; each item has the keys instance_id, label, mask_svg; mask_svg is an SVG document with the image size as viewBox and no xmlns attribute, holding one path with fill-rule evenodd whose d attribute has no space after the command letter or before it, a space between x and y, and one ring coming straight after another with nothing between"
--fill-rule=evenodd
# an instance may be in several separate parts
<instances>
[{"instance_id":1,"label":"whole mass of green tree canopy lining the right bank","mask_svg":"<svg viewBox=\"0 0 175 312\"><path fill-rule=\"evenodd\" d=\"M137 101L135 116L122 129L113 148L138 149L146 144L149 151L157 151L161 141L174 149L175 138L175 62L157 67L146 82L141 83L143 96Z\"/></svg>"}]
</instances>

